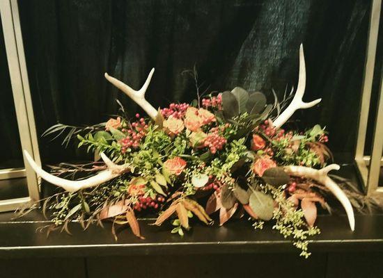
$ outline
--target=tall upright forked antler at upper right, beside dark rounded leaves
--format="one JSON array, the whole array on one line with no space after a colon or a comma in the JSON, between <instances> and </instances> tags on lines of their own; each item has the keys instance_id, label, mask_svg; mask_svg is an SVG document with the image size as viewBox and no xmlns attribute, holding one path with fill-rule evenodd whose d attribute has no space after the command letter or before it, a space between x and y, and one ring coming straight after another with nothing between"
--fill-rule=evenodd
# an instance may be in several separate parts
<instances>
[{"instance_id":1,"label":"tall upright forked antler at upper right, beside dark rounded leaves","mask_svg":"<svg viewBox=\"0 0 383 278\"><path fill-rule=\"evenodd\" d=\"M304 89L306 88L306 65L304 63L304 53L303 53L303 45L299 48L299 79L297 92L295 92L295 96L292 99L288 108L281 113L274 120L273 124L276 128L281 127L288 119L294 114L298 109L305 109L314 106L315 104L320 103L322 99L315 99L311 102L302 101L302 97L304 95Z\"/></svg>"}]
</instances>

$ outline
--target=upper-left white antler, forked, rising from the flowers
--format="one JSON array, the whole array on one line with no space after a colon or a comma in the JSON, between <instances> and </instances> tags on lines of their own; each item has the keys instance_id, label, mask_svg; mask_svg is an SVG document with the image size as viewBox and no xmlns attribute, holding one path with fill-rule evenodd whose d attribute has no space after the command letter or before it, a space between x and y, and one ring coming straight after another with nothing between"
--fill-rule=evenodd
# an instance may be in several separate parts
<instances>
[{"instance_id":1,"label":"upper-left white antler, forked, rising from the flowers","mask_svg":"<svg viewBox=\"0 0 383 278\"><path fill-rule=\"evenodd\" d=\"M149 115L149 117L151 117L153 120L155 120L155 117L157 116L157 110L145 99L145 92L146 92L146 89L148 89L148 86L149 86L149 83L150 83L150 79L152 79L152 76L153 76L153 73L155 72L155 69L153 67L153 69L150 71L149 75L148 75L148 78L146 79L145 83L143 83L143 86L140 90L136 91L136 90L133 90L132 88L130 88L128 85L126 85L125 83L123 83L122 81L119 81L118 79L115 79L114 77L112 76L109 76L109 74L107 74L105 72L105 78L110 82L112 83L113 85L115 85L118 89L122 90L123 92L125 92L125 94L130 97L131 99L133 99L134 102L136 102L136 104L138 104L139 106L141 106L141 108L143 108L143 110Z\"/></svg>"}]
</instances>

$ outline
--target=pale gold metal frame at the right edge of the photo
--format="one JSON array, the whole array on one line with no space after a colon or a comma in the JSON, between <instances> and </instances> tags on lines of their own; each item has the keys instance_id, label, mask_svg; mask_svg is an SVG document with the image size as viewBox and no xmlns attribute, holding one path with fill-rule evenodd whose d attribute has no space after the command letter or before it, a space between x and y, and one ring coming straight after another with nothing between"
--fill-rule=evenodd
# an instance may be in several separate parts
<instances>
[{"instance_id":1,"label":"pale gold metal frame at the right edge of the photo","mask_svg":"<svg viewBox=\"0 0 383 278\"><path fill-rule=\"evenodd\" d=\"M382 0L372 1L366 51L366 65L364 68L364 83L361 96L357 148L355 152L355 164L357 165L361 181L364 183L364 190L368 195L376 192L383 193L383 188L379 188L378 186L380 167L383 165L383 76L381 76L379 90L380 95L377 102L377 115L375 118L371 156L364 156L381 8Z\"/></svg>"}]
</instances>

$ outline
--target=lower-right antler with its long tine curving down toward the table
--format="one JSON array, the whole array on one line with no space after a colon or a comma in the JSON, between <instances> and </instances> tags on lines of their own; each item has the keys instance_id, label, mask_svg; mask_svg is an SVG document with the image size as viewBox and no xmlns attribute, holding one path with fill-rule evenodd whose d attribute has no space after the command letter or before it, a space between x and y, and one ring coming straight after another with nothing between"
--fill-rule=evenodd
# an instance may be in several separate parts
<instances>
[{"instance_id":1,"label":"lower-right antler with its long tine curving down toward the table","mask_svg":"<svg viewBox=\"0 0 383 278\"><path fill-rule=\"evenodd\" d=\"M348 222L350 223L350 228L352 229L352 231L354 231L355 218L350 200L347 198L343 190L341 190L341 188L335 183L335 181L333 181L329 176L327 176L329 171L340 169L338 164L328 165L327 167L324 167L321 170L315 170L313 168L304 166L285 166L284 169L291 176L313 179L326 186L345 208Z\"/></svg>"}]
</instances>

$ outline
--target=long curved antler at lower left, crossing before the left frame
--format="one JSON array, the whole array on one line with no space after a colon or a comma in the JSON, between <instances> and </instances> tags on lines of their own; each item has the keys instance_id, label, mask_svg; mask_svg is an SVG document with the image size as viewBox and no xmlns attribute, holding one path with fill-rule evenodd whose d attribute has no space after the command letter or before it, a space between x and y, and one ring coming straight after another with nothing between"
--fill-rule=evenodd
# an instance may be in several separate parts
<instances>
[{"instance_id":1,"label":"long curved antler at lower left, crossing before the left frame","mask_svg":"<svg viewBox=\"0 0 383 278\"><path fill-rule=\"evenodd\" d=\"M120 174L127 172L129 170L128 165L116 165L113 163L105 154L100 153L100 156L104 163L107 165L107 170L102 170L98 174L88 179L82 179L80 181L71 181L69 179L62 179L60 177L56 177L53 174L49 174L42 170L42 168L33 161L33 158L29 155L28 152L24 149L24 155L26 160L29 162L29 165L33 168L33 170L38 174L42 179L48 181L49 183L53 183L56 186L60 186L64 188L68 192L75 192L84 188L91 188L94 186L98 186L101 183L106 181L110 181L114 179Z\"/></svg>"}]
</instances>

